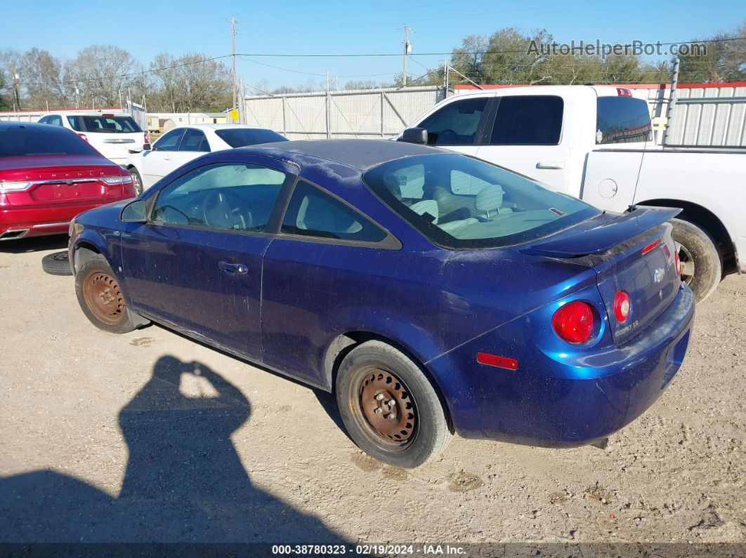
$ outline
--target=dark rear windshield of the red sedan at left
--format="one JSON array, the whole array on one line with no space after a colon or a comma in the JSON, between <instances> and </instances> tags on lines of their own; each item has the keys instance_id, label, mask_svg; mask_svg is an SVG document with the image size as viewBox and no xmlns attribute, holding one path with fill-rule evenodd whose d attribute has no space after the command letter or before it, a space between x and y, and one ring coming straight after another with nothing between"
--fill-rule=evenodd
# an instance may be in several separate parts
<instances>
[{"instance_id":1,"label":"dark rear windshield of the red sedan at left","mask_svg":"<svg viewBox=\"0 0 746 558\"><path fill-rule=\"evenodd\" d=\"M98 151L77 134L60 127L0 131L0 157L31 155L98 155Z\"/></svg>"}]
</instances>

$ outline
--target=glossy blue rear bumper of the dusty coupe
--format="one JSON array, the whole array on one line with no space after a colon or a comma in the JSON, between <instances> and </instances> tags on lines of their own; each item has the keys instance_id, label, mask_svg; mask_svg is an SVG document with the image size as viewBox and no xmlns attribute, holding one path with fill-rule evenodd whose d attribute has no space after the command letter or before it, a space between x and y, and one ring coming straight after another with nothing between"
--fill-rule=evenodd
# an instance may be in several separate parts
<instances>
[{"instance_id":1,"label":"glossy blue rear bumper of the dusty coupe","mask_svg":"<svg viewBox=\"0 0 746 558\"><path fill-rule=\"evenodd\" d=\"M528 354L518 357L518 370L477 364L474 355L488 350L491 338L503 347L502 352L495 348L496 354L516 356L495 339L498 329L428 367L461 436L530 446L583 446L623 428L658 399L686 354L694 309L692 291L682 285L663 314L618 348L568 358L562 352L525 347ZM516 322L521 323L512 327L523 328L524 336L530 332L523 320Z\"/></svg>"}]
</instances>

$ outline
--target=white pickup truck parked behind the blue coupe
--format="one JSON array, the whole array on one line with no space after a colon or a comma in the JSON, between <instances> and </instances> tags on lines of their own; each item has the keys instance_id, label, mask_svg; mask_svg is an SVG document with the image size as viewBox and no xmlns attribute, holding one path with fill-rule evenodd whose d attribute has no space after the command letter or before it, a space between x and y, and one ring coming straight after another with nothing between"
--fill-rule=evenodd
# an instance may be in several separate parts
<instances>
[{"instance_id":1,"label":"white pickup truck parked behind the blue coupe","mask_svg":"<svg viewBox=\"0 0 746 558\"><path fill-rule=\"evenodd\" d=\"M674 241L682 279L698 300L724 274L746 271L746 149L654 145L648 104L629 89L518 86L457 95L399 139L477 156L599 209L683 209Z\"/></svg>"}]
</instances>

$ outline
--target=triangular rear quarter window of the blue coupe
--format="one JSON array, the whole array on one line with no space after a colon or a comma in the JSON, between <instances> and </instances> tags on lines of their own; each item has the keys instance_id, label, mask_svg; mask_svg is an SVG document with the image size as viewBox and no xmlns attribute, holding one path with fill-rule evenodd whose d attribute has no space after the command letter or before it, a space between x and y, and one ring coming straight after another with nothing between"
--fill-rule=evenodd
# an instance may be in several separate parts
<instances>
[{"instance_id":1,"label":"triangular rear quarter window of the blue coupe","mask_svg":"<svg viewBox=\"0 0 746 558\"><path fill-rule=\"evenodd\" d=\"M292 192L280 232L358 242L386 238L386 232L363 215L302 180Z\"/></svg>"}]
</instances>

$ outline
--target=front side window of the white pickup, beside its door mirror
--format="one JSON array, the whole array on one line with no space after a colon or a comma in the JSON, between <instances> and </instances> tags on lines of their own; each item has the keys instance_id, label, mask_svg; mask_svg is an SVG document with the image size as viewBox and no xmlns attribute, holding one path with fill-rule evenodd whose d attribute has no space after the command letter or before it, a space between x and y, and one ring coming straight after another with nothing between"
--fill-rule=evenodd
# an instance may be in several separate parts
<instances>
[{"instance_id":1,"label":"front side window of the white pickup, beside its door mirror","mask_svg":"<svg viewBox=\"0 0 746 558\"><path fill-rule=\"evenodd\" d=\"M433 112L419 127L427 130L428 145L473 145L486 106L486 97L454 101Z\"/></svg>"}]
</instances>

